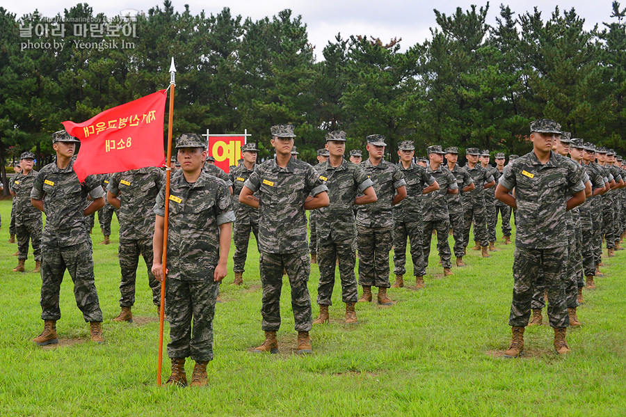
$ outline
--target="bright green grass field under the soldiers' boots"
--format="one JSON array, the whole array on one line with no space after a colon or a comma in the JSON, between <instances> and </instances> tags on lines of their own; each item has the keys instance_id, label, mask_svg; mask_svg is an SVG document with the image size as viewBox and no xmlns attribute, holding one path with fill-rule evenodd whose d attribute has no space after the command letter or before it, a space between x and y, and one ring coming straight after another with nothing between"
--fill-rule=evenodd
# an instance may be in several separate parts
<instances>
[{"instance_id":1,"label":"bright green grass field under the soldiers' boots","mask_svg":"<svg viewBox=\"0 0 626 417\"><path fill-rule=\"evenodd\" d=\"M391 289L391 307L358 304L358 324L343 324L339 279L331 322L312 331L314 354L294 354L289 283L282 292L280 354L255 355L263 341L258 253L252 241L244 284L225 278L216 309L209 387L157 388L159 322L140 261L134 324L119 313L118 223L113 244L94 229L94 261L105 345L88 341L66 274L60 344L35 346L42 330L40 276L19 274L8 244L10 201L0 201L0 413L3 416L623 416L626 414L626 251L604 260L604 278L586 291L583 326L568 330L572 353L556 356L549 326L527 329L526 356L503 359L511 329L513 245L491 258L469 251L467 268L442 278L433 240L426 288ZM96 221L97 224L97 221ZM253 237L252 237L253 239ZM451 239L451 238L450 238ZM234 246L231 247L231 254ZM410 258L410 257L409 257ZM410 260L409 260L410 261ZM454 262L454 260L453 260ZM32 253L26 269L32 271ZM229 264L232 269L232 261ZM408 265L412 271L412 265ZM313 303L319 271L311 267ZM412 281L411 279L409 281ZM415 284L415 281L412 281ZM314 304L314 317L318 308ZM544 322L546 313L544 311ZM166 324L166 341L168 340ZM191 375L193 362L187 362ZM163 377L169 360L163 361ZM621 410L621 411L620 411Z\"/></svg>"}]
</instances>

